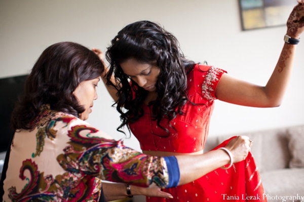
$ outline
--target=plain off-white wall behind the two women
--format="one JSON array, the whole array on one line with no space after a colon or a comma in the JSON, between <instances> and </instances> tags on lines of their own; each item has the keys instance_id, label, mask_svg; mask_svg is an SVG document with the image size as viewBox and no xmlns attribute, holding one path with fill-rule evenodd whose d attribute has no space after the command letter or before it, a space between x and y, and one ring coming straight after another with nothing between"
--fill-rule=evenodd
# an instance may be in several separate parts
<instances>
[{"instance_id":1,"label":"plain off-white wall behind the two women","mask_svg":"<svg viewBox=\"0 0 304 202\"><path fill-rule=\"evenodd\" d=\"M295 1L296 2L296 1ZM242 31L237 0L0 0L0 77L28 73L44 49L72 41L103 51L125 25L137 20L164 25L196 62L227 70L234 77L265 85L284 45L284 26ZM302 36L304 37L304 35ZM304 124L304 42L282 105L260 109L216 101L210 136ZM89 123L115 138L119 114L102 83ZM126 145L139 150L134 137Z\"/></svg>"}]
</instances>

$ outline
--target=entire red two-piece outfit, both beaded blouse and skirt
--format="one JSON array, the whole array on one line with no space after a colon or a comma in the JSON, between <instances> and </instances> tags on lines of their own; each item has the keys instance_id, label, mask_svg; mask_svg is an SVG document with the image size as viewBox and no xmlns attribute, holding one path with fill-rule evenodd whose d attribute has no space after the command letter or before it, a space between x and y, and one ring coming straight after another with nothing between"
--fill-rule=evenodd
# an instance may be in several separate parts
<instances>
[{"instance_id":1,"label":"entire red two-piece outfit, both beaded blouse and skirt","mask_svg":"<svg viewBox=\"0 0 304 202\"><path fill-rule=\"evenodd\" d=\"M162 120L161 126L169 130L169 136L151 119L152 108L143 104L144 115L129 125L141 149L178 153L203 150L216 99L215 89L224 72L219 68L196 64L187 74L188 99L195 105L187 102L183 107L185 113L171 120L170 124L176 130L169 127L168 120ZM218 147L223 147L227 142ZM147 197L147 201L267 201L263 199L264 190L251 153L230 169L217 169L192 183L164 191L171 193L174 198Z\"/></svg>"}]
</instances>

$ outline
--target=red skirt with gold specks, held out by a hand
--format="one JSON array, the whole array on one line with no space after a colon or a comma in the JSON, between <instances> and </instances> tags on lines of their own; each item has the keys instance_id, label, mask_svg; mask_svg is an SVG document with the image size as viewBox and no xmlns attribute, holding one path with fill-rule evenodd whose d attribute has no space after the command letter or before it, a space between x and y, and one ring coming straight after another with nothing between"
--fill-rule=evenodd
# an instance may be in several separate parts
<instances>
[{"instance_id":1,"label":"red skirt with gold specks, held out by a hand","mask_svg":"<svg viewBox=\"0 0 304 202\"><path fill-rule=\"evenodd\" d=\"M224 147L224 141L212 150ZM230 169L216 169L191 183L164 189L173 199L146 197L147 202L194 201L267 201L254 158L249 152L245 160Z\"/></svg>"}]
</instances>

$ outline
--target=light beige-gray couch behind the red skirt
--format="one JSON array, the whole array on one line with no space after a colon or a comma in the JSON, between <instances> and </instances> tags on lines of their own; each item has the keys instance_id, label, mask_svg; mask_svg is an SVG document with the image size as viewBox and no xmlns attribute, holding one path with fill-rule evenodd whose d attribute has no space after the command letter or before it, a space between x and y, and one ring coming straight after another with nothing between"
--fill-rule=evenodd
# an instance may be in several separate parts
<instances>
[{"instance_id":1,"label":"light beige-gray couch behind the red skirt","mask_svg":"<svg viewBox=\"0 0 304 202\"><path fill-rule=\"evenodd\" d=\"M253 141L251 152L269 202L304 201L304 125L237 135ZM204 152L231 136L209 137Z\"/></svg>"}]
</instances>

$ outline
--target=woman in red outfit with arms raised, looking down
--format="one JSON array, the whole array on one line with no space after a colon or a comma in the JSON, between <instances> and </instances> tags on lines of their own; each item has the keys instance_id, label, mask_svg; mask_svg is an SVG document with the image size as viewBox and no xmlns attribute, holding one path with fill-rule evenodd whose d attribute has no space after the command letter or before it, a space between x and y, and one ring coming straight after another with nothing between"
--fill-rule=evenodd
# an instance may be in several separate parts
<instances>
[{"instance_id":1,"label":"woman in red outfit with arms raised, looking down","mask_svg":"<svg viewBox=\"0 0 304 202\"><path fill-rule=\"evenodd\" d=\"M203 153L215 99L251 107L279 106L304 30L304 1L298 2L287 21L281 56L264 87L237 80L222 69L188 61L177 39L156 23L127 25L106 52L110 67L104 80L121 114L118 129L127 126L145 154L195 155ZM99 50L94 51L102 57ZM174 198L163 201L267 201L250 153L229 169L216 169L164 191ZM161 200L147 197L147 201Z\"/></svg>"}]
</instances>

